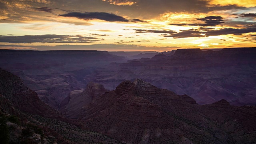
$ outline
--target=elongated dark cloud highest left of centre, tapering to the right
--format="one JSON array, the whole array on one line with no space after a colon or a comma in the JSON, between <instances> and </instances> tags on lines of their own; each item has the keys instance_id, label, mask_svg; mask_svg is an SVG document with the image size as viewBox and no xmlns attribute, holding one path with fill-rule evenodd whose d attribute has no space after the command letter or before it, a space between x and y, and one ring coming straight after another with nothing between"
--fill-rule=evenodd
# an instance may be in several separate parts
<instances>
[{"instance_id":1,"label":"elongated dark cloud highest left of centre, tapering to the right","mask_svg":"<svg viewBox=\"0 0 256 144\"><path fill-rule=\"evenodd\" d=\"M118 16L107 12L69 12L66 14L59 14L58 16L76 17L84 20L105 20L107 22L146 22L139 19L128 20L122 16Z\"/></svg>"}]
</instances>

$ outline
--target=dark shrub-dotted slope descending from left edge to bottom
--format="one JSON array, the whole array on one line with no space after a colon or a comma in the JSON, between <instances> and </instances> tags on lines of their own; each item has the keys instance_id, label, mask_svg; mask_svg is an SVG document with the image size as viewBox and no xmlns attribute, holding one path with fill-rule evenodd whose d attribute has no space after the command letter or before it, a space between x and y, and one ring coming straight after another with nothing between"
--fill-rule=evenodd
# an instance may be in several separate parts
<instances>
[{"instance_id":1,"label":"dark shrub-dotted slope descending from left edge to bottom","mask_svg":"<svg viewBox=\"0 0 256 144\"><path fill-rule=\"evenodd\" d=\"M80 122L39 100L22 79L0 69L1 144L118 144L100 133L81 130Z\"/></svg>"}]
</instances>

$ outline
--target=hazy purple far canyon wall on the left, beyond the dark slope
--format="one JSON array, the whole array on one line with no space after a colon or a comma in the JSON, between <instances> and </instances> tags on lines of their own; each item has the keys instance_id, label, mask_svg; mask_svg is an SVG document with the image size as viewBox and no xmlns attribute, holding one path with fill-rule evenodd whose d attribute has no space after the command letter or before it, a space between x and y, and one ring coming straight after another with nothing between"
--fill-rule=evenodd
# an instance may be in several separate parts
<instances>
[{"instance_id":1,"label":"hazy purple far canyon wall on the left, beyond the dark slope","mask_svg":"<svg viewBox=\"0 0 256 144\"><path fill-rule=\"evenodd\" d=\"M70 92L86 86L83 77L96 67L125 61L96 50L0 50L0 68L20 76L40 100L56 110Z\"/></svg>"}]
</instances>

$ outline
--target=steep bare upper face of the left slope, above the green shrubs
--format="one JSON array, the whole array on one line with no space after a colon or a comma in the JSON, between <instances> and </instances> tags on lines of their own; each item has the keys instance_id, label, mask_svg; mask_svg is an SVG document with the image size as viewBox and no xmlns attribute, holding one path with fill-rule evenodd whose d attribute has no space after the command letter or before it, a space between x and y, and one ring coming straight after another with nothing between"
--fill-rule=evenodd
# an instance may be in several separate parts
<instances>
[{"instance_id":1,"label":"steep bare upper face of the left slope, above the green shrubs","mask_svg":"<svg viewBox=\"0 0 256 144\"><path fill-rule=\"evenodd\" d=\"M2 69L0 69L0 94L10 100L14 107L22 112L46 117L61 116L57 111L39 100L36 92L25 86L21 78Z\"/></svg>"}]
</instances>

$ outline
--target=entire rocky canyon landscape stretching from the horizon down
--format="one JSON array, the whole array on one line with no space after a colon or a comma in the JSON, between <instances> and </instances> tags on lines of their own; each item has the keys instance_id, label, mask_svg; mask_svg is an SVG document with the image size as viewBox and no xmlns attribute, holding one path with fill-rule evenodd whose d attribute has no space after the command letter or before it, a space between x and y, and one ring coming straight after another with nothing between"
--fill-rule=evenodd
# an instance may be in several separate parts
<instances>
[{"instance_id":1,"label":"entire rocky canyon landscape stretching from the horizon down","mask_svg":"<svg viewBox=\"0 0 256 144\"><path fill-rule=\"evenodd\" d=\"M12 143L255 143L255 55L0 50L1 130Z\"/></svg>"}]
</instances>

